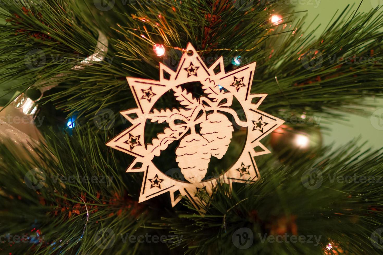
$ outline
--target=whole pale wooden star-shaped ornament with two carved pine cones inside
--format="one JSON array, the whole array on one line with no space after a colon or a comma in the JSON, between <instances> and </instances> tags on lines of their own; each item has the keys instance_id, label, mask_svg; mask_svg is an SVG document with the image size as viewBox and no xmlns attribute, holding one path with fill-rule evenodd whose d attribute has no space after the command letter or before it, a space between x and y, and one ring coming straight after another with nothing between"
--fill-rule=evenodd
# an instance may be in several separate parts
<instances>
[{"instance_id":1,"label":"whole pale wooden star-shaped ornament with two carved pine cones inside","mask_svg":"<svg viewBox=\"0 0 383 255\"><path fill-rule=\"evenodd\" d=\"M106 145L135 157L126 172L144 172L139 202L169 192L172 206L187 197L203 214L206 205L200 199L202 193L211 197L218 183L231 188L233 182L251 184L259 179L254 157L270 153L260 140L282 125L283 120L258 109L267 94L250 93L255 65L225 72L220 57L207 67L189 43L177 70L159 63L159 80L127 77L137 107L121 114L132 125ZM201 84L203 95L195 96L183 87L191 82ZM169 91L180 107L155 109L155 102ZM234 98L246 120L241 120L232 109ZM166 123L167 127L146 144L144 130L149 122ZM228 150L233 123L247 131L244 148L231 167L218 177L206 179L211 158L222 159ZM168 157L162 152L172 143L177 148L175 159L169 160L177 162L184 180L167 176L152 162L154 157Z\"/></svg>"}]
</instances>

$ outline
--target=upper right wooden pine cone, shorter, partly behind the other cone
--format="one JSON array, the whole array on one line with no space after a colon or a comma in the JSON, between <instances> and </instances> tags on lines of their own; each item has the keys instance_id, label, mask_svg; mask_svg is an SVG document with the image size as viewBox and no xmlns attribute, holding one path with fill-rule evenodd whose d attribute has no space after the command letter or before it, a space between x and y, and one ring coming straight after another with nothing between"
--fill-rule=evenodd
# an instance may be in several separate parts
<instances>
[{"instance_id":1,"label":"upper right wooden pine cone, shorter, partly behind the other cone","mask_svg":"<svg viewBox=\"0 0 383 255\"><path fill-rule=\"evenodd\" d=\"M208 140L211 155L221 159L228 151L230 140L233 137L233 123L224 114L214 112L201 123L201 135Z\"/></svg>"}]
</instances>

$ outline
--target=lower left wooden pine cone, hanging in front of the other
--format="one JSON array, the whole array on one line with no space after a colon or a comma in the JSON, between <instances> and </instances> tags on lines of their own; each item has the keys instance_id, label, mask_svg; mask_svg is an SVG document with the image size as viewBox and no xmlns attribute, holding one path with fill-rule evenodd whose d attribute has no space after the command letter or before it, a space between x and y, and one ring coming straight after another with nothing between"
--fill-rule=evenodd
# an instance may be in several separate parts
<instances>
[{"instance_id":1,"label":"lower left wooden pine cone, hanging in front of the other","mask_svg":"<svg viewBox=\"0 0 383 255\"><path fill-rule=\"evenodd\" d=\"M191 133L180 141L175 154L182 174L191 183L200 183L205 177L211 158L209 142L201 135Z\"/></svg>"}]
</instances>

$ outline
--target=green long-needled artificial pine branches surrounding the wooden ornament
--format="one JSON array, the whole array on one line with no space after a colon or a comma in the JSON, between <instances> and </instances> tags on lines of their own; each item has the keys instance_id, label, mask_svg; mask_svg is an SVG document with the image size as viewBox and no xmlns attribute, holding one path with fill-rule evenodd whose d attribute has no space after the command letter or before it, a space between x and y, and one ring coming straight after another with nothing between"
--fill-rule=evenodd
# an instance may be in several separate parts
<instances>
[{"instance_id":1,"label":"green long-needled artificial pine branches surrounding the wooden ornament","mask_svg":"<svg viewBox=\"0 0 383 255\"><path fill-rule=\"evenodd\" d=\"M198 198L207 204L201 215L187 199L172 207L167 194L138 203L143 175L126 174L133 158L105 145L130 125L118 112L136 107L126 76L158 80L159 62L177 67L188 42L208 66L221 55L225 70L236 68L231 60L238 55L242 65L257 62L251 92L268 94L260 110L284 116L290 128L318 124L291 124L303 113L321 114L323 121L343 119L345 112L368 114L363 99L382 96L383 9L360 13L346 6L326 27L313 21L302 31L309 13L297 18L278 1L249 1L250 8L245 2L3 1L0 81L13 81L2 96L15 94L4 106L12 107L30 87L56 86L39 101L44 141L34 153L12 141L0 145L0 254L381 253L383 239L374 232L383 227L380 150L363 151L350 141L288 157L286 151L259 156L260 179L217 185L213 197ZM283 20L270 21L274 14ZM313 37L318 29L322 34ZM100 33L108 39L103 61L73 70L95 52ZM153 52L154 44L164 45L165 56ZM44 64L31 68L26 56L36 50ZM167 107L171 97L165 94L157 106ZM148 123L145 132L150 137L159 130ZM239 137L232 133L236 149L228 153L241 151ZM321 174L316 189L303 181L310 169ZM43 185L31 188L30 174L44 175ZM334 181L355 174L375 181ZM84 176L97 180L69 180ZM314 242L267 241L286 234ZM26 242L9 242L10 236ZM240 249L236 238L251 238L252 245Z\"/></svg>"}]
</instances>

